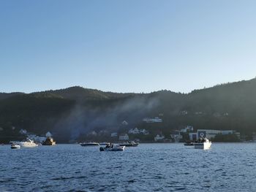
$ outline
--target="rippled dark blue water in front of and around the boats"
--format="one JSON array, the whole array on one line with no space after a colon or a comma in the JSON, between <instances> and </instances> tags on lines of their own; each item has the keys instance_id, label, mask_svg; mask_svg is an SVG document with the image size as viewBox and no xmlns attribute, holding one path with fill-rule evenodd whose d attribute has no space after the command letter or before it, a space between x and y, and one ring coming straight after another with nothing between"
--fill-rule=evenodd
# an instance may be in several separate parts
<instances>
[{"instance_id":1,"label":"rippled dark blue water in front of and around the boats","mask_svg":"<svg viewBox=\"0 0 256 192\"><path fill-rule=\"evenodd\" d=\"M0 146L0 191L256 191L256 143Z\"/></svg>"}]
</instances>

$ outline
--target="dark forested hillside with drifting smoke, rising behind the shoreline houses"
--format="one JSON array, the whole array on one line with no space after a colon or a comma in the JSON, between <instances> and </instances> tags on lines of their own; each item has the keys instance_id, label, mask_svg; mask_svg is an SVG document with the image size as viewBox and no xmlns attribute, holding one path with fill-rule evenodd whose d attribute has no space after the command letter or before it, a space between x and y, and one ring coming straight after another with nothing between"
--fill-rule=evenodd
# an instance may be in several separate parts
<instances>
[{"instance_id":1,"label":"dark forested hillside with drifting smoke, rising behind the shoreline houses","mask_svg":"<svg viewBox=\"0 0 256 192\"><path fill-rule=\"evenodd\" d=\"M90 131L125 131L135 126L166 134L194 128L256 131L256 80L232 82L182 94L111 93L72 87L36 93L0 93L0 142L18 139L20 129L53 132L67 142ZM160 116L159 116L160 115ZM162 123L143 123L143 118ZM129 124L123 126L126 120Z\"/></svg>"}]
</instances>

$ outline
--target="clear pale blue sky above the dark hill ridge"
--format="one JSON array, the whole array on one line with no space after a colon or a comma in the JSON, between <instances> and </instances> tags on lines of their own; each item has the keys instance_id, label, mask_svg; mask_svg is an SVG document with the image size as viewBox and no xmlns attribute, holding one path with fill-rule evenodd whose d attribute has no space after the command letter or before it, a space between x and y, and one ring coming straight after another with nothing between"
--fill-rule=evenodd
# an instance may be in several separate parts
<instances>
[{"instance_id":1,"label":"clear pale blue sky above the dark hill ridge","mask_svg":"<svg viewBox=\"0 0 256 192\"><path fill-rule=\"evenodd\" d=\"M256 76L256 1L0 1L0 92L189 92Z\"/></svg>"}]
</instances>

